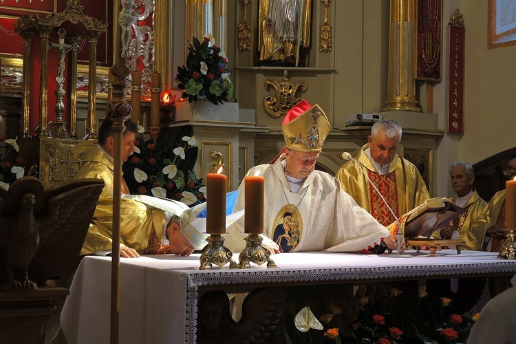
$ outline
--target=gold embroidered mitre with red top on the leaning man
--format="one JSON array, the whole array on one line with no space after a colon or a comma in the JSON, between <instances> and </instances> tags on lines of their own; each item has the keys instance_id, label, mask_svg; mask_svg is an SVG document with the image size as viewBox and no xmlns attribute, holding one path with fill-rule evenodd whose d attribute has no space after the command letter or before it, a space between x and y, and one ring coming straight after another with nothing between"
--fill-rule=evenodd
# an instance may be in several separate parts
<instances>
[{"instance_id":1,"label":"gold embroidered mitre with red top on the leaning man","mask_svg":"<svg viewBox=\"0 0 516 344\"><path fill-rule=\"evenodd\" d=\"M283 137L288 149L321 151L330 132L330 122L319 105L301 100L283 119Z\"/></svg>"}]
</instances>

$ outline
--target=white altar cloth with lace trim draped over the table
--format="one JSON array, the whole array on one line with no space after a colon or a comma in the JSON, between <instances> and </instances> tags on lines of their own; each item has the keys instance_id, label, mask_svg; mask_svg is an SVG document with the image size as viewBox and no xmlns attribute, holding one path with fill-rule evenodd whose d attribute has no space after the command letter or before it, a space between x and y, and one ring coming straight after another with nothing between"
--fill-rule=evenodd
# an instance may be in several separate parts
<instances>
[{"instance_id":1,"label":"white altar cloth with lace trim draped over the table","mask_svg":"<svg viewBox=\"0 0 516 344\"><path fill-rule=\"evenodd\" d=\"M206 290L371 283L407 279L515 275L516 261L493 252L407 250L411 258L352 253L272 255L278 268L252 265L199 270L200 255L120 258L120 343L195 343L197 299ZM61 312L69 344L109 343L111 258L85 257Z\"/></svg>"}]
</instances>

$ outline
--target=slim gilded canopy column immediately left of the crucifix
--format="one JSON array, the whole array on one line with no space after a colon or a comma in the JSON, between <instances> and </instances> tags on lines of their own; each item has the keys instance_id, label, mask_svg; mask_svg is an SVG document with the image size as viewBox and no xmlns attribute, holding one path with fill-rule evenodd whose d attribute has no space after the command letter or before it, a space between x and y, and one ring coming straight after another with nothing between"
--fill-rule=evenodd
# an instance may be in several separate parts
<instances>
[{"instance_id":1,"label":"slim gilded canopy column immediately left of the crucifix","mask_svg":"<svg viewBox=\"0 0 516 344\"><path fill-rule=\"evenodd\" d=\"M48 136L48 39L50 37L50 28L47 26L39 27L39 36L41 38L41 72L39 74L39 127L37 133L39 136ZM28 84L28 83L27 83Z\"/></svg>"}]
</instances>

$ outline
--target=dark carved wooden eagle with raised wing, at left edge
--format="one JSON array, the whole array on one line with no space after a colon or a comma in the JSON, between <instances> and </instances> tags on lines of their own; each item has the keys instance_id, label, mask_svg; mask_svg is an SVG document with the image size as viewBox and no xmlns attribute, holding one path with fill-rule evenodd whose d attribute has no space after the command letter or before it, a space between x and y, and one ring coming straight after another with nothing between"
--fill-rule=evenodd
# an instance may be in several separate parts
<instances>
[{"instance_id":1,"label":"dark carved wooden eagle with raised wing, at left edge","mask_svg":"<svg viewBox=\"0 0 516 344\"><path fill-rule=\"evenodd\" d=\"M78 264L103 180L80 179L43 190L34 177L0 188L1 290L34 290Z\"/></svg>"}]
</instances>

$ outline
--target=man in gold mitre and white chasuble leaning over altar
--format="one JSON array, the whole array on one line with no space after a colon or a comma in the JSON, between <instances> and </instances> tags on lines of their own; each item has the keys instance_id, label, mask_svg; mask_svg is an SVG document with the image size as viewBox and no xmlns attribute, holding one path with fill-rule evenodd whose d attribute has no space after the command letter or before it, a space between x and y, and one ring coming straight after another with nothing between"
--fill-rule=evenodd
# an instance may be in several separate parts
<instances>
[{"instance_id":1,"label":"man in gold mitre and white chasuble leaning over altar","mask_svg":"<svg viewBox=\"0 0 516 344\"><path fill-rule=\"evenodd\" d=\"M271 164L255 166L247 173L265 179L264 232L272 242L262 245L277 245L280 252L396 249L396 238L358 206L338 180L314 171L330 131L321 107L302 100L288 112L282 129L283 151ZM244 208L244 181L239 191L235 209ZM244 248L237 233L243 227L242 220L230 227L226 246L233 252Z\"/></svg>"}]
</instances>

